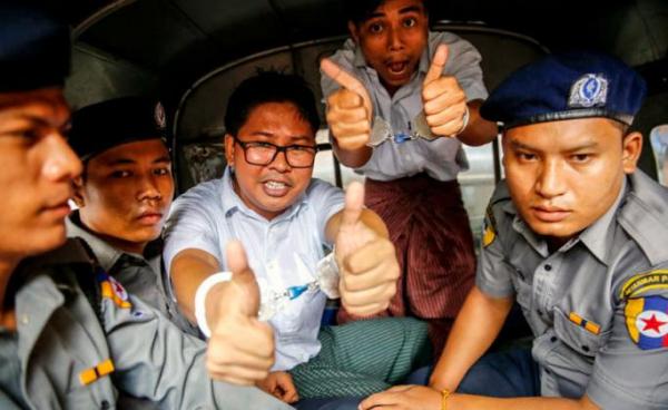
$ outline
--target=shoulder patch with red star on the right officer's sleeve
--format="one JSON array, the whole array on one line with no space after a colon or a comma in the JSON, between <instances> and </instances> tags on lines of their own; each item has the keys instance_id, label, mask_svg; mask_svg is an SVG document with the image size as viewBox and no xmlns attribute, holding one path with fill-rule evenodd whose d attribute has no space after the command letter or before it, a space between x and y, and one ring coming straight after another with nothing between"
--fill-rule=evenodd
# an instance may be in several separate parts
<instances>
[{"instance_id":1,"label":"shoulder patch with red star on the right officer's sleeve","mask_svg":"<svg viewBox=\"0 0 668 410\"><path fill-rule=\"evenodd\" d=\"M642 350L668 348L668 299L629 299L625 308L629 336Z\"/></svg>"}]
</instances>

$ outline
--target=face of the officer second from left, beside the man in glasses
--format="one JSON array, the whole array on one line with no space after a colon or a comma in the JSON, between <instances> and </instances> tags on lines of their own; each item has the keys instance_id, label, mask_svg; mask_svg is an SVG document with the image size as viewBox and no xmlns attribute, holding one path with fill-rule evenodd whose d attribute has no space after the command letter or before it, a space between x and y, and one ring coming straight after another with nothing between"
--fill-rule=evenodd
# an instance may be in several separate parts
<instances>
[{"instance_id":1,"label":"face of the officer second from left, beside the man in glasses","mask_svg":"<svg viewBox=\"0 0 668 410\"><path fill-rule=\"evenodd\" d=\"M173 196L171 162L158 138L94 156L77 188L81 222L116 247L139 254L160 235Z\"/></svg>"}]
</instances>

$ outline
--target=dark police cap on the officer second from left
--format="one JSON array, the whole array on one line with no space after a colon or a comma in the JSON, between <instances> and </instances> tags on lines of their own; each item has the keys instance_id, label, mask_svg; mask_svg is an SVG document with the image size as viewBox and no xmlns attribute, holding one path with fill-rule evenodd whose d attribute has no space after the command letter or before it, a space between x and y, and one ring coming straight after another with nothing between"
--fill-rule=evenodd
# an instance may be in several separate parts
<instances>
[{"instance_id":1,"label":"dark police cap on the officer second from left","mask_svg":"<svg viewBox=\"0 0 668 410\"><path fill-rule=\"evenodd\" d=\"M81 160L118 145L146 139L166 141L165 110L151 98L122 97L76 110L68 141Z\"/></svg>"}]
</instances>

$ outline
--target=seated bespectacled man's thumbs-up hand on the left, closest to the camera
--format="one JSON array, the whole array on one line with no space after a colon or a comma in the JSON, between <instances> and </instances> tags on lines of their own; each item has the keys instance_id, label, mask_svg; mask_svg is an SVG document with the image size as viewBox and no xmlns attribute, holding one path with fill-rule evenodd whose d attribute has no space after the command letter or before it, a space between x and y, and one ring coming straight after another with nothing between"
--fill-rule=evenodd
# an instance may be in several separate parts
<instances>
[{"instance_id":1,"label":"seated bespectacled man's thumbs-up hand on the left, closest to the camera","mask_svg":"<svg viewBox=\"0 0 668 410\"><path fill-rule=\"evenodd\" d=\"M257 319L259 287L242 244L232 241L226 251L232 280L207 294L207 306L216 309L207 310L212 336L206 364L214 379L253 385L274 364L274 331Z\"/></svg>"}]
</instances>

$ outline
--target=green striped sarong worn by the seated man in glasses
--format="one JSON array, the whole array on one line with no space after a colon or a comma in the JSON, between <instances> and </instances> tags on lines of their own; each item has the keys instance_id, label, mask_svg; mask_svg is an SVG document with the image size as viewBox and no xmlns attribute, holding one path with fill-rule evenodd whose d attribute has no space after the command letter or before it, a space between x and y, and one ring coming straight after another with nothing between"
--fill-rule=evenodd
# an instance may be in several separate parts
<instances>
[{"instance_id":1,"label":"green striped sarong worn by the seated man in glasses","mask_svg":"<svg viewBox=\"0 0 668 410\"><path fill-rule=\"evenodd\" d=\"M426 328L409 318L324 326L320 353L289 371L299 398L363 397L403 381L432 360Z\"/></svg>"}]
</instances>

